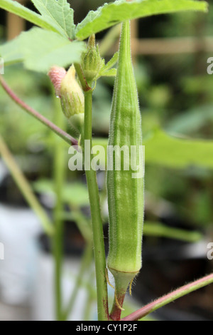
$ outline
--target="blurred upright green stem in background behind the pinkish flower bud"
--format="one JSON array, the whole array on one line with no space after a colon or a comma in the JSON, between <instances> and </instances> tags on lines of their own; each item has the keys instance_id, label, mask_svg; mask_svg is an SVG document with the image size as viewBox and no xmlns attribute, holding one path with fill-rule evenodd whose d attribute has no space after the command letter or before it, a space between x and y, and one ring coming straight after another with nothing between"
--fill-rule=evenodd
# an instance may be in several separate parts
<instances>
[{"instance_id":1,"label":"blurred upright green stem in background behind the pinkish flower bud","mask_svg":"<svg viewBox=\"0 0 213 335\"><path fill-rule=\"evenodd\" d=\"M60 110L60 103L55 102L55 123L63 127L64 117ZM62 321L62 259L63 259L63 220L61 212L63 210L62 188L65 182L65 151L63 143L59 138L55 138L54 145L54 185L56 204L53 212L53 220L55 225L55 235L53 236L53 256L55 259L55 317L58 321Z\"/></svg>"}]
</instances>

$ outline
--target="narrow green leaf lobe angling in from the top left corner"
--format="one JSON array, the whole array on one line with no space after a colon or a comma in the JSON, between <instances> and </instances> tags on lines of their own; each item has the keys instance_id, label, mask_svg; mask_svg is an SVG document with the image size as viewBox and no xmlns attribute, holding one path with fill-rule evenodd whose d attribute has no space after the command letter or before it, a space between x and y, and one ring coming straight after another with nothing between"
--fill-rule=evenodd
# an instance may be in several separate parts
<instances>
[{"instance_id":1,"label":"narrow green leaf lobe angling in from the top left corner","mask_svg":"<svg viewBox=\"0 0 213 335\"><path fill-rule=\"evenodd\" d=\"M0 8L9 11L10 13L16 14L32 24L40 26L41 28L48 29L51 31L58 31L58 27L53 24L53 21L48 17L43 17L34 11L26 8L25 6L18 4L17 1L13 0L1 0Z\"/></svg>"}]
</instances>

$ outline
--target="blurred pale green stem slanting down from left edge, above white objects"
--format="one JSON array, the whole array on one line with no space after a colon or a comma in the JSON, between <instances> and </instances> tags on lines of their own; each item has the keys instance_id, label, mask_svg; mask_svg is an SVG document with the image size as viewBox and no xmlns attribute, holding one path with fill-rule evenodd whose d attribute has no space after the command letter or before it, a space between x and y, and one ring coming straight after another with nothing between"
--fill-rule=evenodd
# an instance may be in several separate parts
<instances>
[{"instance_id":1,"label":"blurred pale green stem slanting down from left edge, above white objects","mask_svg":"<svg viewBox=\"0 0 213 335\"><path fill-rule=\"evenodd\" d=\"M46 234L52 235L54 233L54 228L48 215L46 214L45 210L43 210L43 207L38 202L38 199L35 197L31 189L31 185L29 184L28 180L26 180L26 177L23 175L21 169L18 167L16 161L9 151L9 148L7 148L3 138L1 138L1 135L0 153L4 159L4 162L6 163L6 166L9 168L16 185L18 186L19 190L21 190L21 193L23 194L26 202L28 202L28 205L32 208L35 214L38 215L40 222L43 225L44 231Z\"/></svg>"}]
</instances>

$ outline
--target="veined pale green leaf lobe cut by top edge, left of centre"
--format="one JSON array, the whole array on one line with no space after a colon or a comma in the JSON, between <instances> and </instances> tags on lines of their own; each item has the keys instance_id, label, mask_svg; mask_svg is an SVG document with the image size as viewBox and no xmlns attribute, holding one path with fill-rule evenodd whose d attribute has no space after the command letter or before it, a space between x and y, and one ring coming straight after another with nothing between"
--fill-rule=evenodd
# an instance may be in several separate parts
<instances>
[{"instance_id":1,"label":"veined pale green leaf lobe cut by top edge, left of centre","mask_svg":"<svg viewBox=\"0 0 213 335\"><path fill-rule=\"evenodd\" d=\"M31 0L40 11L44 19L53 23L58 32L68 38L74 39L75 24L73 22L73 9L67 0Z\"/></svg>"}]
</instances>

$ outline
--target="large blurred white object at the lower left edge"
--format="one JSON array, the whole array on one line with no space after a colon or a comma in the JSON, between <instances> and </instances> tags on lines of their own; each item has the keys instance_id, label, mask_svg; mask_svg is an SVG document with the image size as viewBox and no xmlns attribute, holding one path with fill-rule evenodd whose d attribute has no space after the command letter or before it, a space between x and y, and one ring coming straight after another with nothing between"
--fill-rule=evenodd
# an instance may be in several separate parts
<instances>
[{"instance_id":1,"label":"large blurred white object at the lower left edge","mask_svg":"<svg viewBox=\"0 0 213 335\"><path fill-rule=\"evenodd\" d=\"M25 304L30 298L35 278L41 232L38 217L30 209L0 204L0 242L4 260L0 260L1 301Z\"/></svg>"}]
</instances>

